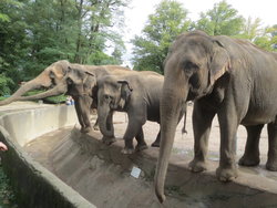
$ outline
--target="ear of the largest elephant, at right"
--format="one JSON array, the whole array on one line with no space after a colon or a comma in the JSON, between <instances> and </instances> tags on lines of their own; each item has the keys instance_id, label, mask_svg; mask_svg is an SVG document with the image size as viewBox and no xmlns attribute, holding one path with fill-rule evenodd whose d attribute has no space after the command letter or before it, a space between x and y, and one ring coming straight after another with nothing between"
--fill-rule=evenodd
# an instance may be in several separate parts
<instances>
[{"instance_id":1,"label":"ear of the largest elephant, at right","mask_svg":"<svg viewBox=\"0 0 277 208\"><path fill-rule=\"evenodd\" d=\"M230 69L229 55L224 44L214 40L214 53L209 65L209 82L213 85L225 72Z\"/></svg>"}]
</instances>

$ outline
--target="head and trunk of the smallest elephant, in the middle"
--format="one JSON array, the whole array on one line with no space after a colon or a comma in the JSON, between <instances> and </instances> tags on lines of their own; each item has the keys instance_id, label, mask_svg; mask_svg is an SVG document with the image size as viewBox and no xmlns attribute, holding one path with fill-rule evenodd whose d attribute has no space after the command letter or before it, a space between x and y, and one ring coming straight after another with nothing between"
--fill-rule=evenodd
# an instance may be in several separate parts
<instances>
[{"instance_id":1,"label":"head and trunk of the smallest elephant, in the middle","mask_svg":"<svg viewBox=\"0 0 277 208\"><path fill-rule=\"evenodd\" d=\"M117 80L113 75L100 79L98 86L100 131L105 137L113 137L113 111L124 111L129 104L133 89L127 81Z\"/></svg>"}]
</instances>

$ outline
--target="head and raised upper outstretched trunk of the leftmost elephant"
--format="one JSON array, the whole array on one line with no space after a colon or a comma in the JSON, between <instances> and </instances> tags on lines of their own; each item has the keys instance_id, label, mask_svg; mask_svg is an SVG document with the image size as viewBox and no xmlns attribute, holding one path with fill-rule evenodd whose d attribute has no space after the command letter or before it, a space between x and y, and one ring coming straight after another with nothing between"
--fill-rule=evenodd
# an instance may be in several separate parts
<instances>
[{"instance_id":1,"label":"head and raised upper outstretched trunk of the leftmost elephant","mask_svg":"<svg viewBox=\"0 0 277 208\"><path fill-rule=\"evenodd\" d=\"M13 93L9 98L1 101L0 105L7 105L11 102L19 101L19 100L30 100L30 97L23 97L27 92L40 87L50 89L51 86L55 86L60 84L66 74L68 66L70 65L70 62L62 60L52 63L50 66L48 66L43 72L41 72L35 79L27 82L23 84L16 93ZM58 89L57 89L58 90ZM59 89L59 91L64 91L62 89ZM51 96L52 94L59 94L60 92L53 92L51 90L47 94L38 94L33 98L42 98L45 96Z\"/></svg>"}]
</instances>

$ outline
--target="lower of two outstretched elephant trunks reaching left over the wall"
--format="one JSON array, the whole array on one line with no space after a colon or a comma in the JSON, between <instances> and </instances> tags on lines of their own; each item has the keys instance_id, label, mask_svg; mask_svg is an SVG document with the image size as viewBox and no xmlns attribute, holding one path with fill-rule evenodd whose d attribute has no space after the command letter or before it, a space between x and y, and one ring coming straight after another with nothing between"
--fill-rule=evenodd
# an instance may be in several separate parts
<instances>
[{"instance_id":1,"label":"lower of two outstretched elephant trunks reaching left over the wall","mask_svg":"<svg viewBox=\"0 0 277 208\"><path fill-rule=\"evenodd\" d=\"M20 96L18 98L18 101L31 101L31 100L39 100L39 98L44 98L44 97L49 97L49 96L54 96L54 95L60 95L63 94L68 91L68 85L62 83L62 84L58 84L55 87L43 92L43 93L39 93L37 95L30 95L30 96Z\"/></svg>"}]
</instances>

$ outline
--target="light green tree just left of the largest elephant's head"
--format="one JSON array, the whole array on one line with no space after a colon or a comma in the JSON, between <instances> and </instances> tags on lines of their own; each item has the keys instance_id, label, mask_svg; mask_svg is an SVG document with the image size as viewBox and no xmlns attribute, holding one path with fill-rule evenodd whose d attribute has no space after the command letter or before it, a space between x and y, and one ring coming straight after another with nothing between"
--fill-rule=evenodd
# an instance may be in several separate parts
<instances>
[{"instance_id":1,"label":"light green tree just left of the largest elephant's head","mask_svg":"<svg viewBox=\"0 0 277 208\"><path fill-rule=\"evenodd\" d=\"M163 73L163 62L173 40L187 31L191 21L187 10L177 1L162 1L155 12L148 15L142 34L132 40L135 70L151 70Z\"/></svg>"}]
</instances>

